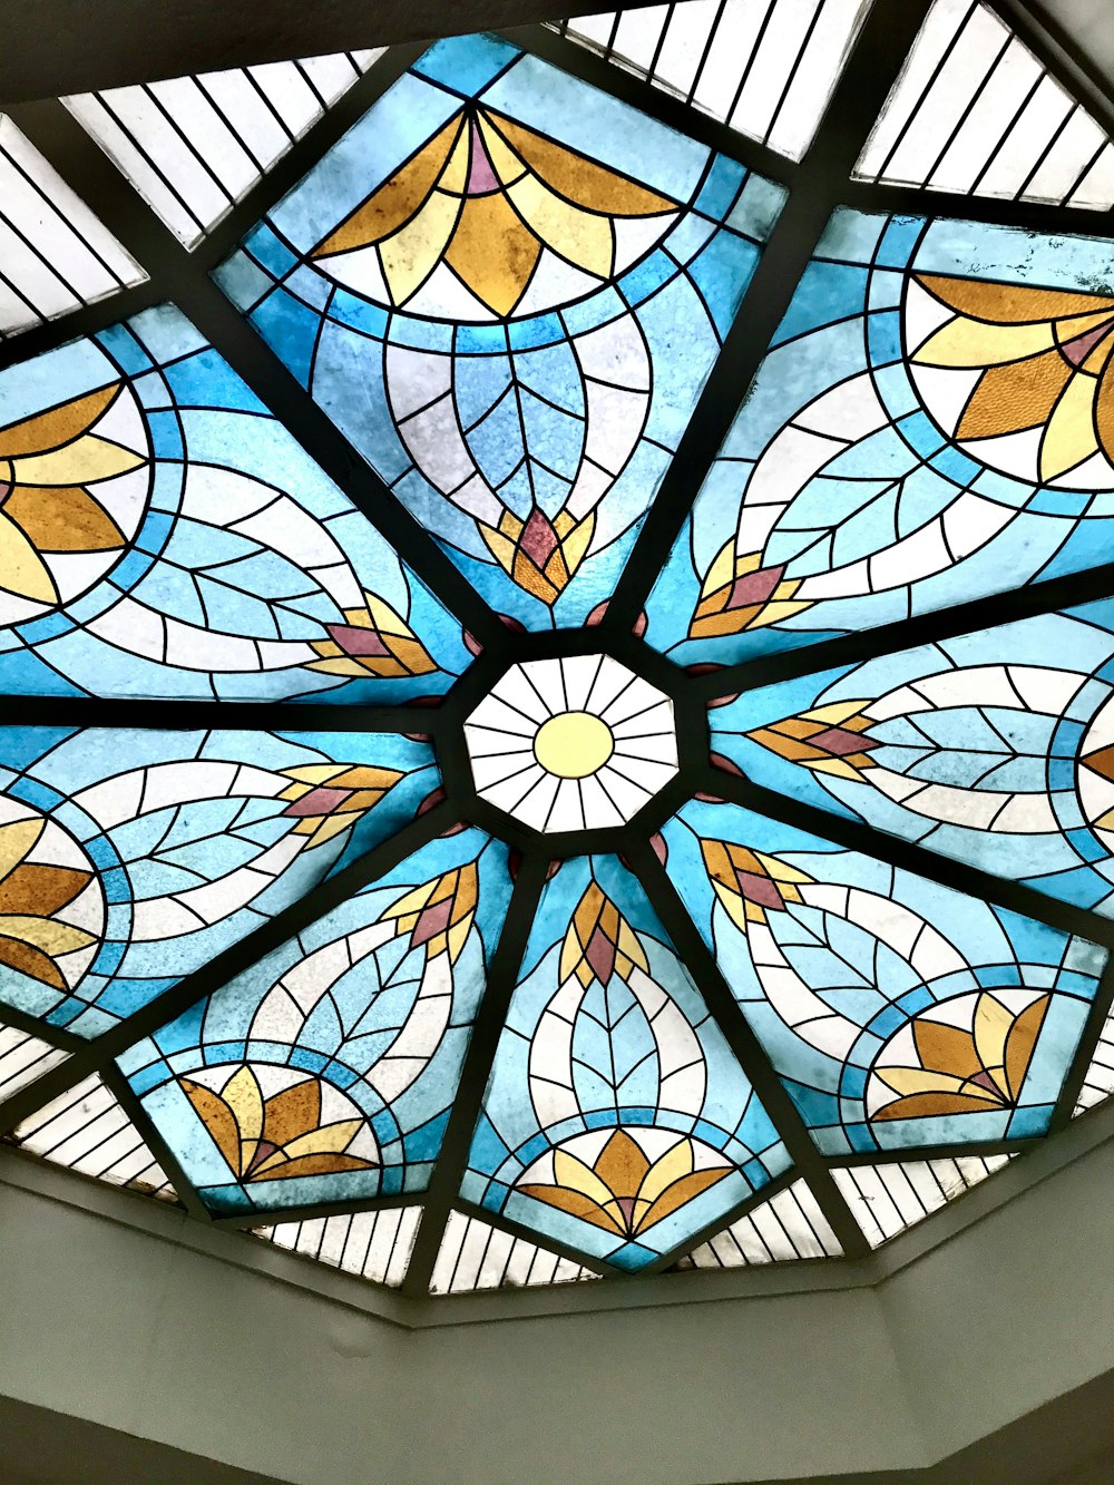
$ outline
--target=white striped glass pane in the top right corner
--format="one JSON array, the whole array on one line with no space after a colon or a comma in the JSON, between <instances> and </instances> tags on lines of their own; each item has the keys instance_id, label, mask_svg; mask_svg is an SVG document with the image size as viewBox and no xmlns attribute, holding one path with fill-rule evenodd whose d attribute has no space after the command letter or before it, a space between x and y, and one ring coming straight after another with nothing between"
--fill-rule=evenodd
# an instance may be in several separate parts
<instances>
[{"instance_id":1,"label":"white striped glass pane in the top right corner","mask_svg":"<svg viewBox=\"0 0 1114 1485\"><path fill-rule=\"evenodd\" d=\"M860 180L1107 211L1098 123L980 0L936 0L866 148Z\"/></svg>"}]
</instances>

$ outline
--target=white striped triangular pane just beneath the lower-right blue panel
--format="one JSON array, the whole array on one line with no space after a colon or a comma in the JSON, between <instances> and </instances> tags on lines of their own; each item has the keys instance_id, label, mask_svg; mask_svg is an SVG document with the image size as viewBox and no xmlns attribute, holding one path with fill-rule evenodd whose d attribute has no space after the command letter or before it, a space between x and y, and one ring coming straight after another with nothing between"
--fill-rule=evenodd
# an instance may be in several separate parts
<instances>
[{"instance_id":1,"label":"white striped triangular pane just beneath the lower-right blue panel","mask_svg":"<svg viewBox=\"0 0 1114 1485\"><path fill-rule=\"evenodd\" d=\"M870 1247L896 1237L971 1187L1013 1155L958 1155L955 1160L906 1160L833 1170L836 1185Z\"/></svg>"}]
</instances>

